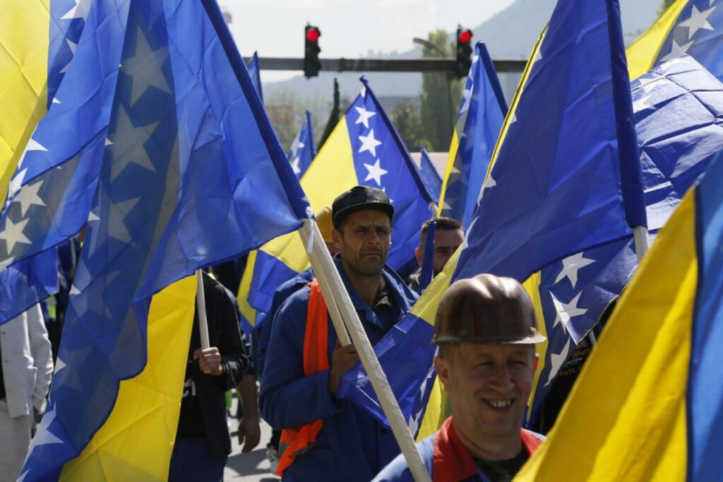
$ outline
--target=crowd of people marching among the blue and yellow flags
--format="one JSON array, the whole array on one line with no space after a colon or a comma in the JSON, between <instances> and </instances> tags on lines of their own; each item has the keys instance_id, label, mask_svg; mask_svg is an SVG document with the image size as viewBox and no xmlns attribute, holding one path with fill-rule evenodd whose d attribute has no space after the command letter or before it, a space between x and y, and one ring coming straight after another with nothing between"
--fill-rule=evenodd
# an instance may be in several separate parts
<instances>
[{"instance_id":1,"label":"crowd of people marching among the blue and yellow flags","mask_svg":"<svg viewBox=\"0 0 723 482\"><path fill-rule=\"evenodd\" d=\"M386 264L394 216L388 195L364 186L341 193L316 215L372 344L419 297L429 223L435 221L435 276L463 244L458 221L426 221L414 253L419 269L402 279ZM0 327L0 481L20 474L33 423L43 413L81 244L82 236L61 252L62 289L55 303L43 305L45 313L36 305ZM252 334L252 349L234 296L238 263L203 276L210 347L201 347L194 321L169 480L223 480L231 453L227 394L233 389L240 400L242 451L260 443L261 415L273 428L267 445L272 470L283 480L413 480L392 431L337 397L341 376L359 362L359 354L353 344L338 342L312 269L278 287ZM451 284L432 339L451 415L419 443L432 480L510 481L544 440L596 336L599 329L589 334L593 343L581 343L560 371L534 427L540 433L523 429L537 366L535 344L544 341L529 295L515 280L490 274Z\"/></svg>"}]
</instances>

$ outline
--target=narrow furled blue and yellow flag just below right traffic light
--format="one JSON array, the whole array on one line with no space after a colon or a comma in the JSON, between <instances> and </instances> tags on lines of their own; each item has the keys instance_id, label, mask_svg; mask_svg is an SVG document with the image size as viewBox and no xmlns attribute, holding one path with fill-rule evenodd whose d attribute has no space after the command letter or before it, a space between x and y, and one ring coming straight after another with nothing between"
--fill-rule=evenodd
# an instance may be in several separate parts
<instances>
[{"instance_id":1,"label":"narrow furled blue and yellow flag just below right traffic light","mask_svg":"<svg viewBox=\"0 0 723 482\"><path fill-rule=\"evenodd\" d=\"M462 93L438 208L440 216L457 219L465 229L477 207L507 111L487 46L478 42Z\"/></svg>"}]
</instances>

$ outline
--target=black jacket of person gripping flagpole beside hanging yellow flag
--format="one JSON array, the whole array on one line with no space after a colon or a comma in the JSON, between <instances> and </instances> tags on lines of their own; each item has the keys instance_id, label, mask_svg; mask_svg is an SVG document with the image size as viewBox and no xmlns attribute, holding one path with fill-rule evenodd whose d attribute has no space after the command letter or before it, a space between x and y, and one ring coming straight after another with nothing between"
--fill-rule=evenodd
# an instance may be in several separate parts
<instances>
[{"instance_id":1,"label":"black jacket of person gripping flagpole beside hanging yellow flag","mask_svg":"<svg viewBox=\"0 0 723 482\"><path fill-rule=\"evenodd\" d=\"M226 391L241 381L249 358L241 342L239 319L226 289L215 279L204 274L203 288L208 318L208 339L211 347L221 352L223 373L211 376L203 373L198 363L192 363L192 378L203 415L203 425L209 444L218 455L231 453L231 436L226 425ZM194 313L191 351L201 347L198 313Z\"/></svg>"}]
</instances>

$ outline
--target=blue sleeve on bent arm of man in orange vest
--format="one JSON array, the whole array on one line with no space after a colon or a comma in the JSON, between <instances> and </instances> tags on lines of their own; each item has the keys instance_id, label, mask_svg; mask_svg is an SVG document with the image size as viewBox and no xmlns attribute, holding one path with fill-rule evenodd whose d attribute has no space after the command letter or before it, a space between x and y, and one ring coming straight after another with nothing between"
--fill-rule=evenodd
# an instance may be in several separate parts
<instances>
[{"instance_id":1,"label":"blue sleeve on bent arm of man in orange vest","mask_svg":"<svg viewBox=\"0 0 723 482\"><path fill-rule=\"evenodd\" d=\"M271 327L259 405L264 420L276 429L329 418L341 410L341 400L329 393L328 370L304 376L308 302L308 288L296 292L278 310Z\"/></svg>"}]
</instances>

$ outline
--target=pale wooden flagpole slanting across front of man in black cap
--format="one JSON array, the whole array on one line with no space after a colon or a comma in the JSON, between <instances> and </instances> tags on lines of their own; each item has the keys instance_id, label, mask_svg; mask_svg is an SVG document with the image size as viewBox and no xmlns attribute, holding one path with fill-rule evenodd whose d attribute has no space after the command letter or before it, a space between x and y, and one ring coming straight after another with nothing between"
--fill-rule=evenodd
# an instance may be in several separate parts
<instances>
[{"instance_id":1,"label":"pale wooden flagpole slanting across front of man in black cap","mask_svg":"<svg viewBox=\"0 0 723 482\"><path fill-rule=\"evenodd\" d=\"M389 425L392 428L394 438L396 439L404 458L409 465L411 475L414 477L416 482L432 482L427 473L427 468L424 466L424 460L422 455L419 454L419 450L414 444L414 437L409 430L409 426L404 420L397 399L394 397L392 389L389 385L389 381L382 371L382 366L377 360L377 357L372 348L372 344L367 338L367 333L361 326L359 316L354 310L354 305L351 303L346 289L343 289L343 282L341 276L336 270L333 260L329 251L325 248L324 240L319 227L314 219L307 219L304 221L304 226L299 231L301 234L301 240L309 246L307 248L309 253L309 261L312 263L314 273L319 281L319 286L322 290L322 295L327 305L330 305L329 300L335 300L334 303L337 305L339 312L337 316L341 314L341 320L334 321L334 327L341 323L349 331L351 339L354 342L354 347L359 353L361 358L361 364L364 365L364 369L367 371L369 381L372 382L377 397L382 405L382 410L389 420ZM319 275L322 275L321 277ZM330 311L332 319L335 316L335 312ZM342 345L344 343L342 342Z\"/></svg>"}]
</instances>

